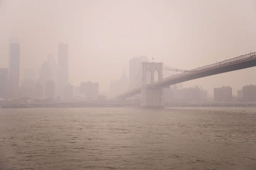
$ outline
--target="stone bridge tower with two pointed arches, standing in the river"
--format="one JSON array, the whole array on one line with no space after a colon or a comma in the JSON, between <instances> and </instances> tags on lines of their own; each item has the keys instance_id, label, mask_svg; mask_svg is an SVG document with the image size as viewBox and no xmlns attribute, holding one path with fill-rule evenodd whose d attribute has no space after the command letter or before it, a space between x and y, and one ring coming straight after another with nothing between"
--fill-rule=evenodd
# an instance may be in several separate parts
<instances>
[{"instance_id":1,"label":"stone bridge tower with two pointed arches, standing in the river","mask_svg":"<svg viewBox=\"0 0 256 170\"><path fill-rule=\"evenodd\" d=\"M163 79L162 67L163 63L142 63L141 107L163 107L163 88L147 87L155 84L155 72L158 74L156 81Z\"/></svg>"}]
</instances>

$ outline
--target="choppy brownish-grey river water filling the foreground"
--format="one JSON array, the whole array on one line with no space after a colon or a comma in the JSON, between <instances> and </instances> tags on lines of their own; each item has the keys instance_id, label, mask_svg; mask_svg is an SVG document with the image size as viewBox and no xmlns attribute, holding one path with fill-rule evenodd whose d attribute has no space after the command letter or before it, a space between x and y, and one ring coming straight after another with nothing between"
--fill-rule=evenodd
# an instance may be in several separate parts
<instances>
[{"instance_id":1,"label":"choppy brownish-grey river water filling the foreground","mask_svg":"<svg viewBox=\"0 0 256 170\"><path fill-rule=\"evenodd\" d=\"M256 169L256 108L0 109L0 169Z\"/></svg>"}]
</instances>

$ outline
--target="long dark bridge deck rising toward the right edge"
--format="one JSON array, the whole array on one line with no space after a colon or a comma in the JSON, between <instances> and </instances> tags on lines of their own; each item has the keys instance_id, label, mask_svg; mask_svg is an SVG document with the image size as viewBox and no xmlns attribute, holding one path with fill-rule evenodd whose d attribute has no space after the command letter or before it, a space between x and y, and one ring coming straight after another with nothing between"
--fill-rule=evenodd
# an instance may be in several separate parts
<instances>
[{"instance_id":1,"label":"long dark bridge deck rising toward the right edge","mask_svg":"<svg viewBox=\"0 0 256 170\"><path fill-rule=\"evenodd\" d=\"M239 57L224 60L218 63L213 63L211 65L205 65L203 67L195 68L183 73L179 73L167 78L161 78L158 81L151 81L150 84L142 83L142 86L131 89L123 94L120 94L116 99L122 100L128 97L132 97L136 94L141 93L141 89L162 89L163 87L170 86L173 84L181 83L184 81L189 81L197 78L202 78L206 76L212 76L215 74L226 73L229 71L240 70L244 68L256 66L256 52L252 52L246 55L241 55ZM142 63L142 69L144 64ZM161 77L161 76L160 76ZM142 74L142 79L145 79L145 75ZM151 97L154 97L154 95ZM142 97L143 98L143 97ZM159 98L160 99L160 98ZM160 99L161 100L161 99ZM154 106L154 105L152 105ZM155 105L156 106L156 105ZM159 105L158 105L159 106ZM156 107L158 107L156 106Z\"/></svg>"}]
</instances>

